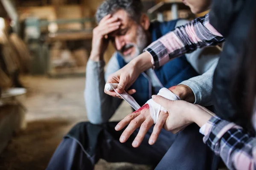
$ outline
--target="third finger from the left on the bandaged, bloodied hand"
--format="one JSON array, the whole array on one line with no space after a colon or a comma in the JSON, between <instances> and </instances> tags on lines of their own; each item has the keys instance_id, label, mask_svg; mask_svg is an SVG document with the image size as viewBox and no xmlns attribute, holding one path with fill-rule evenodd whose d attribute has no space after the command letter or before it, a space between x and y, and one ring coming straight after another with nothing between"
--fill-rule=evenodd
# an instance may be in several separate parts
<instances>
[{"instance_id":1,"label":"third finger from the left on the bandaged, bloodied hand","mask_svg":"<svg viewBox=\"0 0 256 170\"><path fill-rule=\"evenodd\" d=\"M153 120L151 117L149 119L146 119L143 124L140 126L139 133L137 134L136 138L132 142L133 147L139 147L141 142L143 141L146 133L151 128L151 126L154 125Z\"/></svg>"}]
</instances>

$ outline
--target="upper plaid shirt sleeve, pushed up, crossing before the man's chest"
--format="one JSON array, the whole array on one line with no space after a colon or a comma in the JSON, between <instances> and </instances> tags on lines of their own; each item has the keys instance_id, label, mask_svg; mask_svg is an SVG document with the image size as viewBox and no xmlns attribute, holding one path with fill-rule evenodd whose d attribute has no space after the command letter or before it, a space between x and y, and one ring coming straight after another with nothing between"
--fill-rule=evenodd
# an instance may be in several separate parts
<instances>
[{"instance_id":1,"label":"upper plaid shirt sleeve, pushed up, crossing before the man's chest","mask_svg":"<svg viewBox=\"0 0 256 170\"><path fill-rule=\"evenodd\" d=\"M184 26L177 27L157 41L145 51L151 54L154 68L158 68L170 59L191 53L197 48L218 45L224 42L224 37L209 23L209 14L198 17Z\"/></svg>"}]
</instances>

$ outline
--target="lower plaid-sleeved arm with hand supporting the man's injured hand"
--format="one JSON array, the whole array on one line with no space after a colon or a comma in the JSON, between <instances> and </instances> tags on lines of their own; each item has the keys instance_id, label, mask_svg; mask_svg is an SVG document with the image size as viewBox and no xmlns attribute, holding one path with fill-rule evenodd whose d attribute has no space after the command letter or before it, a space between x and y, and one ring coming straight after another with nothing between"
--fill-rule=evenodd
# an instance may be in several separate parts
<instances>
[{"instance_id":1,"label":"lower plaid-sleeved arm with hand supporting the man's injured hand","mask_svg":"<svg viewBox=\"0 0 256 170\"><path fill-rule=\"evenodd\" d=\"M171 101L161 96L153 100L169 112L166 130L172 131L188 123L195 122L201 127L206 143L216 155L232 170L255 170L256 138L250 136L242 127L222 120L200 105L185 101Z\"/></svg>"}]
</instances>

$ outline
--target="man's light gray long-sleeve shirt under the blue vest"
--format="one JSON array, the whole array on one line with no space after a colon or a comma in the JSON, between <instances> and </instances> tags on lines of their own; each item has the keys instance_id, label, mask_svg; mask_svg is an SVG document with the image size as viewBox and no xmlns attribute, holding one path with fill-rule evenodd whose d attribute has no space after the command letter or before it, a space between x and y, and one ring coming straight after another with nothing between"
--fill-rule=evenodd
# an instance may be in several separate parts
<instances>
[{"instance_id":1,"label":"man's light gray long-sleeve shirt under the blue vest","mask_svg":"<svg viewBox=\"0 0 256 170\"><path fill-rule=\"evenodd\" d=\"M186 24L185 20L179 20L176 27L184 24ZM192 89L195 94L195 104L211 105L212 79L218 64L219 53L218 48L207 47L185 55L195 71L200 74L180 83ZM89 59L87 62L84 99L88 119L93 124L108 122L122 102L122 99L114 98L104 93L106 79L120 69L116 53L113 54L108 62L105 72L104 67L104 61L94 62ZM147 74L154 87L162 86L152 69L149 69Z\"/></svg>"}]
</instances>

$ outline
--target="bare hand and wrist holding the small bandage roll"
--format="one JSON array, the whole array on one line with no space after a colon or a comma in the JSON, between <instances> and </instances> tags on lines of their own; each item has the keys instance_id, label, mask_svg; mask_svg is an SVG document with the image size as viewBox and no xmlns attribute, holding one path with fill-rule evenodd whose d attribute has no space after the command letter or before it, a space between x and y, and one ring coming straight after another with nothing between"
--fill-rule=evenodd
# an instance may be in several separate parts
<instances>
[{"instance_id":1,"label":"bare hand and wrist holding the small bandage roll","mask_svg":"<svg viewBox=\"0 0 256 170\"><path fill-rule=\"evenodd\" d=\"M152 67L151 55L148 52L144 52L131 60L131 62L119 71L111 74L106 83L118 83L119 85L116 91L122 94L124 90L127 90L135 82L143 71ZM105 90L105 93L113 97L119 97L116 92L113 91Z\"/></svg>"}]
</instances>

